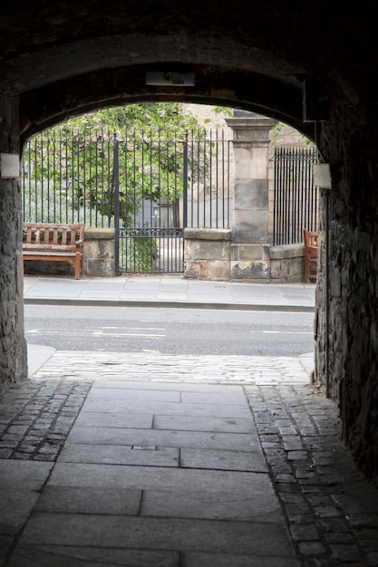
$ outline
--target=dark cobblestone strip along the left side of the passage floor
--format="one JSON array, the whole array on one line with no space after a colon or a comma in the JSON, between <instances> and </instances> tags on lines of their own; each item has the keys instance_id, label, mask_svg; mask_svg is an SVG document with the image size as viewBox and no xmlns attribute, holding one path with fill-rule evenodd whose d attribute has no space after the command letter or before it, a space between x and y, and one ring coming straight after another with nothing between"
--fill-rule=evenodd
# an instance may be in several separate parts
<instances>
[{"instance_id":1,"label":"dark cobblestone strip along the left side of the passage floor","mask_svg":"<svg viewBox=\"0 0 378 567\"><path fill-rule=\"evenodd\" d=\"M91 381L27 380L0 403L0 458L55 461Z\"/></svg>"}]
</instances>

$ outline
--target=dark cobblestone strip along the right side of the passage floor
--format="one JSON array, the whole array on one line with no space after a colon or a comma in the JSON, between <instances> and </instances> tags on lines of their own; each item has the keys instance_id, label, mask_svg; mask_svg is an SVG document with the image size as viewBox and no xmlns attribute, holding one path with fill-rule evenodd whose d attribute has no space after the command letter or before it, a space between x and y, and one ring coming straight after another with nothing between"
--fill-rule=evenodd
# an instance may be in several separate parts
<instances>
[{"instance_id":1,"label":"dark cobblestone strip along the right side of the passage floor","mask_svg":"<svg viewBox=\"0 0 378 567\"><path fill-rule=\"evenodd\" d=\"M334 402L307 387L245 391L302 565L378 565L378 491L343 447Z\"/></svg>"}]
</instances>

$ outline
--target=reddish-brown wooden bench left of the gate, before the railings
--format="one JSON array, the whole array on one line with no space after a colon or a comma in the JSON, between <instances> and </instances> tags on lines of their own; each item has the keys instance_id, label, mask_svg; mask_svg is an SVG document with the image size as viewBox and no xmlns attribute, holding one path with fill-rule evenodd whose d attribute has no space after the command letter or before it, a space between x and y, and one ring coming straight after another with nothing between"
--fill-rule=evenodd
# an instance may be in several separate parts
<instances>
[{"instance_id":1,"label":"reddish-brown wooden bench left of the gate, before the railings","mask_svg":"<svg viewBox=\"0 0 378 567\"><path fill-rule=\"evenodd\" d=\"M23 223L23 258L44 262L69 262L75 279L82 276L84 225Z\"/></svg>"}]
</instances>

